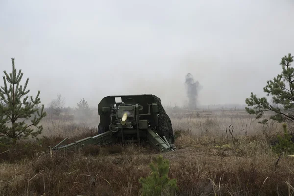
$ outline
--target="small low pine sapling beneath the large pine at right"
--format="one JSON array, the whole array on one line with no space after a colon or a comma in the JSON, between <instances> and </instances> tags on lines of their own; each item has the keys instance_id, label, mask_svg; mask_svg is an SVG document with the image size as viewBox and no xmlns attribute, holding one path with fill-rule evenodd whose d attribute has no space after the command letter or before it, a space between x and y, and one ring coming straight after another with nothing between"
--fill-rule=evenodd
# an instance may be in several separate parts
<instances>
[{"instance_id":1,"label":"small low pine sapling beneath the large pine at right","mask_svg":"<svg viewBox=\"0 0 294 196\"><path fill-rule=\"evenodd\" d=\"M287 125L283 124L284 137L278 136L279 143L272 147L272 150L276 153L285 153L285 155L294 153L294 143L291 141L292 136L287 131Z\"/></svg>"}]
</instances>

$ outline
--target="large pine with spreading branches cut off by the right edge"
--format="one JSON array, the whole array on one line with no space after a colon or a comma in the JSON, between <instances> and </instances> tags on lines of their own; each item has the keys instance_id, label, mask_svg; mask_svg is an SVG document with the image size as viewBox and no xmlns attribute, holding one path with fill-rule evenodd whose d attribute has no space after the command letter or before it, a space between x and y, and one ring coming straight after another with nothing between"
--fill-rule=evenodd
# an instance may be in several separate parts
<instances>
[{"instance_id":1,"label":"large pine with spreading branches cut off by the right edge","mask_svg":"<svg viewBox=\"0 0 294 196\"><path fill-rule=\"evenodd\" d=\"M267 116L259 121L265 124L270 119L278 122L294 122L294 67L291 63L294 61L291 53L281 59L280 66L282 68L281 74L274 77L273 80L267 81L267 85L263 91L267 96L272 96L273 103L270 104L266 97L257 98L251 92L250 98L245 99L248 107L245 107L249 114L255 114L256 119L260 119L265 112L270 111L272 115ZM253 107L253 108L249 108Z\"/></svg>"}]
</instances>

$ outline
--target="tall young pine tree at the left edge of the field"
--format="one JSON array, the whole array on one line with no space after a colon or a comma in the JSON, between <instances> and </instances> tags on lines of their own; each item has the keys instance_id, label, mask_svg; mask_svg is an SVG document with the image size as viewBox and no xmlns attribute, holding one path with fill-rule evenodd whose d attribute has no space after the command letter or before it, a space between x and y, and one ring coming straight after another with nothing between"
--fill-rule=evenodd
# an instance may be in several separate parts
<instances>
[{"instance_id":1,"label":"tall young pine tree at the left edge of the field","mask_svg":"<svg viewBox=\"0 0 294 196\"><path fill-rule=\"evenodd\" d=\"M21 71L19 70L17 74L14 66L14 58L12 58L12 73L8 75L4 71L4 87L1 86L0 88L0 99L2 101L2 104L0 104L1 141L12 139L13 143L16 143L17 139L26 139L28 136L36 137L43 129L41 125L38 126L41 119L46 116L46 113L43 112L44 105L42 105L41 111L37 107L41 103L39 98L40 91L38 91L35 99L32 96L30 97L30 101L27 101L28 96L23 98L30 90L26 90L29 78L27 78L24 88L20 85L23 77ZM9 88L7 82L10 83ZM34 118L31 120L31 124L26 124L25 120L31 118L32 115L34 115ZM19 121L20 119L23 119L23 121ZM32 126L37 127L37 130L32 129Z\"/></svg>"}]
</instances>

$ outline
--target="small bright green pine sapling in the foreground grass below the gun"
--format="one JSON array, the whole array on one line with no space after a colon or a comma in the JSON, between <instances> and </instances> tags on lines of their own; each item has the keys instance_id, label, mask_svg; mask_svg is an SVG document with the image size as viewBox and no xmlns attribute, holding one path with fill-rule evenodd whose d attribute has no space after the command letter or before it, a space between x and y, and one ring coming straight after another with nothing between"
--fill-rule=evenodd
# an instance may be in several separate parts
<instances>
[{"instance_id":1,"label":"small bright green pine sapling in the foreground grass below the gun","mask_svg":"<svg viewBox=\"0 0 294 196\"><path fill-rule=\"evenodd\" d=\"M152 162L149 166L152 174L147 178L141 177L139 180L142 184L143 196L175 195L178 189L177 182L176 179L170 180L168 177L169 160L164 160L160 155L156 158L156 162Z\"/></svg>"}]
</instances>

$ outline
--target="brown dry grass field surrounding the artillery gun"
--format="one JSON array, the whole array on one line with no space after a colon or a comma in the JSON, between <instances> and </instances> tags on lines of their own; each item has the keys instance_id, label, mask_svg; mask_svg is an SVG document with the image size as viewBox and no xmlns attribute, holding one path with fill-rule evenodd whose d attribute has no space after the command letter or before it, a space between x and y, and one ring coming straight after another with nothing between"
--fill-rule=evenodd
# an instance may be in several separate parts
<instances>
[{"instance_id":1,"label":"brown dry grass field surrounding the artillery gun","mask_svg":"<svg viewBox=\"0 0 294 196\"><path fill-rule=\"evenodd\" d=\"M170 162L179 196L290 196L294 192L294 158L282 157L270 144L281 133L279 123L257 123L243 110L167 110L177 150L162 154ZM136 145L89 146L82 151L50 154L48 146L65 136L67 143L97 133L88 122L44 119L43 138L0 151L0 195L3 196L138 196L140 177L158 155ZM232 124L233 140L228 127ZM96 127L94 127L96 126ZM277 164L276 164L277 163Z\"/></svg>"}]
</instances>

